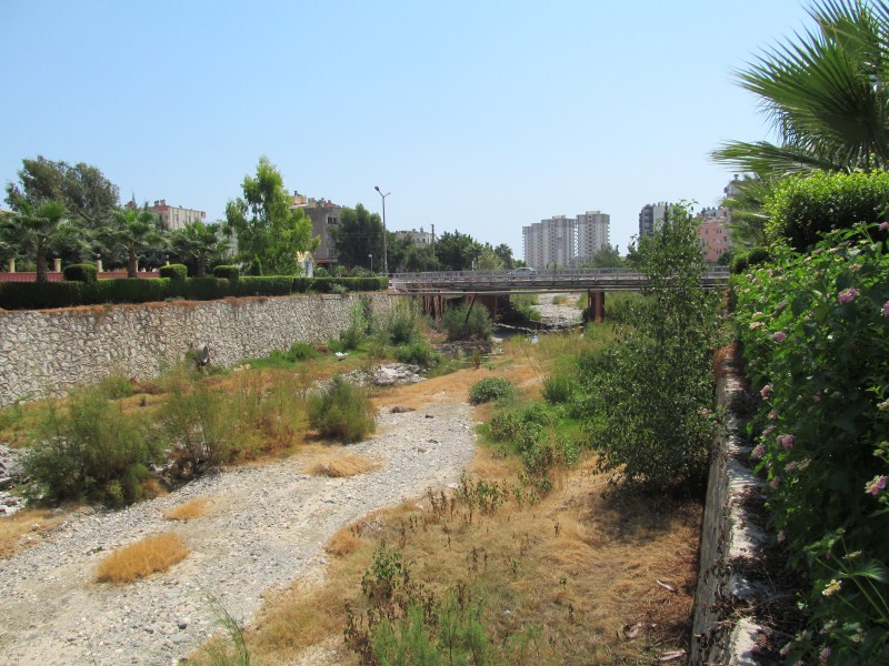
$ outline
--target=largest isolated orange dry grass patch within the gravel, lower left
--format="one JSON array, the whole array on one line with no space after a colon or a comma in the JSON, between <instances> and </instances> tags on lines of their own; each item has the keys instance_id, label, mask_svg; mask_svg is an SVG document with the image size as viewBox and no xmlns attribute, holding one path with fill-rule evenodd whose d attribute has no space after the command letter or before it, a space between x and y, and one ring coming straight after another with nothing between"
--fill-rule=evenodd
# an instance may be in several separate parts
<instances>
[{"instance_id":1,"label":"largest isolated orange dry grass patch within the gravel, lower left","mask_svg":"<svg viewBox=\"0 0 889 666\"><path fill-rule=\"evenodd\" d=\"M96 579L100 583L126 585L154 573L166 572L186 558L189 551L184 539L173 533L149 536L118 548L99 563Z\"/></svg>"}]
</instances>

